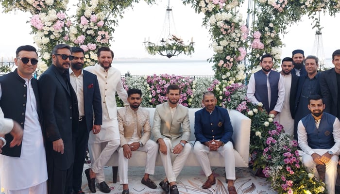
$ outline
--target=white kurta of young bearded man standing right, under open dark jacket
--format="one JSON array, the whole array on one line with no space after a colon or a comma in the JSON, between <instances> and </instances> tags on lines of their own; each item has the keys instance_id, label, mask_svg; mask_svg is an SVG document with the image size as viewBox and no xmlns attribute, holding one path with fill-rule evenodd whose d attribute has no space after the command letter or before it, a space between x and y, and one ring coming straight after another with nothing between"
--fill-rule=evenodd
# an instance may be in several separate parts
<instances>
[{"instance_id":1,"label":"white kurta of young bearded man standing right, under open dark jacket","mask_svg":"<svg viewBox=\"0 0 340 194\"><path fill-rule=\"evenodd\" d=\"M285 129L285 133L293 135L294 119L291 118L289 106L291 74L283 75L282 78L285 86L285 98L283 99L283 107L279 114L279 123L283 126L283 129Z\"/></svg>"}]
</instances>

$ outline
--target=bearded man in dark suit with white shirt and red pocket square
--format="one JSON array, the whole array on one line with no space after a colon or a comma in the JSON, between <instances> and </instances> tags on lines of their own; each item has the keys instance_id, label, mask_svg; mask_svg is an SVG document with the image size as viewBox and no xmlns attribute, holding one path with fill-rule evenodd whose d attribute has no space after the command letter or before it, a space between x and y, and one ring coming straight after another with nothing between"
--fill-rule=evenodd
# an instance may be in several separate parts
<instances>
[{"instance_id":1,"label":"bearded man in dark suit with white shirt and red pocket square","mask_svg":"<svg viewBox=\"0 0 340 194\"><path fill-rule=\"evenodd\" d=\"M71 61L71 67L69 68L69 78L77 95L79 125L78 129L73 129L73 188L70 187L69 191L73 189L75 194L85 194L82 191L82 173L88 136L91 130L93 134L97 134L101 130L102 98L97 76L83 70L84 50L79 47L72 47L71 54L74 59Z\"/></svg>"}]
</instances>

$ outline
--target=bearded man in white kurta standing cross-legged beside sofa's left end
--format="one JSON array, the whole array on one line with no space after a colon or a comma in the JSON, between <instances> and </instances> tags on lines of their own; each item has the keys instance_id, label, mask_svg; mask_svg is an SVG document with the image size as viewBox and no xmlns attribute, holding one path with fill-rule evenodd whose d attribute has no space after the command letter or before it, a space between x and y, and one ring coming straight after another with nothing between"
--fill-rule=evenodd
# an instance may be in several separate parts
<instances>
[{"instance_id":1,"label":"bearded man in white kurta standing cross-legged beside sofa's left end","mask_svg":"<svg viewBox=\"0 0 340 194\"><path fill-rule=\"evenodd\" d=\"M92 193L96 193L95 182L101 192L110 193L103 167L120 145L116 92L125 104L128 102L127 93L120 82L120 71L111 67L113 51L108 47L101 47L97 55L99 65L88 66L85 70L97 75L102 97L102 129L98 134L90 133L88 150L92 166L85 170L85 175Z\"/></svg>"}]
</instances>

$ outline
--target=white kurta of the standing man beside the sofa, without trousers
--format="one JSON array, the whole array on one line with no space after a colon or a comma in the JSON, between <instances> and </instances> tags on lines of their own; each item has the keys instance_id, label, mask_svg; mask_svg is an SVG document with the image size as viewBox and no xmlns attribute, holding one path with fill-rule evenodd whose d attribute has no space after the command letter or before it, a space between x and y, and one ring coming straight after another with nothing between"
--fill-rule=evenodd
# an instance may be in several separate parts
<instances>
[{"instance_id":1,"label":"white kurta of the standing man beside the sofa, without trousers","mask_svg":"<svg viewBox=\"0 0 340 194\"><path fill-rule=\"evenodd\" d=\"M98 134L90 133L88 143L96 144L115 139L119 140L116 92L120 99L122 99L125 104L128 104L127 93L120 79L120 71L114 67L110 67L105 71L100 65L88 66L85 70L97 75L102 97L103 120L101 132ZM104 125L104 123L109 123L109 126Z\"/></svg>"}]
</instances>

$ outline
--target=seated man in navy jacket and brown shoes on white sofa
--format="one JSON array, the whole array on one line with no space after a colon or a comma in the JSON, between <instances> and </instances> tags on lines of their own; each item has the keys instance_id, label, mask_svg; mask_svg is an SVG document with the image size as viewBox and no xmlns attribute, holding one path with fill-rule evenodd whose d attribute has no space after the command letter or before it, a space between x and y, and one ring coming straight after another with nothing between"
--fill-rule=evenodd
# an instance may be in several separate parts
<instances>
[{"instance_id":1,"label":"seated man in navy jacket and brown shoes on white sofa","mask_svg":"<svg viewBox=\"0 0 340 194\"><path fill-rule=\"evenodd\" d=\"M228 180L229 194L237 194L234 187L235 157L233 146L233 127L231 126L228 111L216 106L217 99L212 92L206 92L202 100L203 109L195 113L194 153L201 164L208 179L202 188L208 189L216 183L210 168L208 153L218 151L224 157L225 173Z\"/></svg>"}]
</instances>

